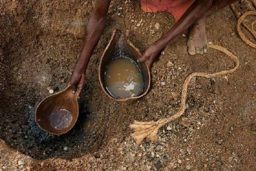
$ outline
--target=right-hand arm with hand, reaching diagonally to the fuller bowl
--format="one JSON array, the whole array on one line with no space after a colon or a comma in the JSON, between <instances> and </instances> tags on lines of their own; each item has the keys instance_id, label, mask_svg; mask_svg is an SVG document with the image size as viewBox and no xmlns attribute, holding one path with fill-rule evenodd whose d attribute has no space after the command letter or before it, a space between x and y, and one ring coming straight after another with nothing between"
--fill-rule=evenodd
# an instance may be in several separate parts
<instances>
[{"instance_id":1,"label":"right-hand arm with hand, reaching diagonally to the fuller bowl","mask_svg":"<svg viewBox=\"0 0 256 171\"><path fill-rule=\"evenodd\" d=\"M180 20L170 29L165 35L159 40L155 41L139 59L140 62L147 62L151 67L155 58L159 55L159 52L166 47L169 41L173 40L177 35L182 33L184 30L197 21L202 15L211 8L212 0L195 1L193 5L184 13Z\"/></svg>"}]
</instances>

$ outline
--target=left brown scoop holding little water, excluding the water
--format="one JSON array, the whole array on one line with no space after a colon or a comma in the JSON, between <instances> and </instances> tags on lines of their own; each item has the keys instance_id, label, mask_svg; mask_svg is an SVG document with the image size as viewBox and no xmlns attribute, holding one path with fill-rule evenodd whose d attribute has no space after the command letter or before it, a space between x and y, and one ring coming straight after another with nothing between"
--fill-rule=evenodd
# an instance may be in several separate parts
<instances>
[{"instance_id":1,"label":"left brown scoop holding little water, excluding the water","mask_svg":"<svg viewBox=\"0 0 256 171\"><path fill-rule=\"evenodd\" d=\"M66 109L72 115L72 120L65 129L57 130L51 126L50 115L54 111ZM71 86L56 94L43 99L35 110L35 122L40 129L50 134L61 135L72 129L79 116L79 105L76 94L73 94Z\"/></svg>"}]
</instances>

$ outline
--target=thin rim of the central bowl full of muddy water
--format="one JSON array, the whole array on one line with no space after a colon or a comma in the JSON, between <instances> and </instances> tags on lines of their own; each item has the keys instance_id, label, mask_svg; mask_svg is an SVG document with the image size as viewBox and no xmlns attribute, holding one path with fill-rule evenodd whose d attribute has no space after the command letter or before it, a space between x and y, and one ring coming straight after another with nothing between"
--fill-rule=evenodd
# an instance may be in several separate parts
<instances>
[{"instance_id":1,"label":"thin rim of the central bowl full of muddy water","mask_svg":"<svg viewBox=\"0 0 256 171\"><path fill-rule=\"evenodd\" d=\"M136 96L136 97L115 98L115 97L113 97L112 95L110 95L109 92L106 92L106 90L105 90L105 88L104 88L104 85L103 85L103 83L102 83L102 81L101 81L101 64L102 64L102 59L103 59L103 56L105 55L106 51L108 50L109 46L111 45L111 42L113 41L113 38L114 38L115 35L116 35L116 31L118 31L118 30L120 30L120 29L115 29L115 30L113 30L111 40L109 41L109 43L108 43L108 45L106 46L106 48L105 48L103 54L101 55L101 59L99 60L99 66L98 66L98 80L99 80L99 84L101 84L102 90L105 92L105 94L106 94L109 98L113 99L114 101L118 101L118 102L133 101L133 100L136 100L136 99L138 99L138 98L143 97L143 96L146 95L146 94L148 93L148 91L150 90L151 74L150 74L150 68L148 67L148 64L147 64L147 63L143 62L143 63L146 65L146 67L147 67L148 76L150 76L149 79L148 79L148 86L147 86L147 89L145 90L145 92L144 92L143 94L140 94L140 95L138 95L138 96ZM121 30L120 30L120 31L121 31ZM140 53L140 50L139 50L138 48L134 47L134 45L130 42L129 38L127 38L127 37L129 36L129 30L126 30L125 33L123 33L123 31L122 31L122 34L125 34L125 40L126 40L127 44L129 44L131 47L133 47L133 48L138 52L138 54L139 54L140 56L142 56L141 53Z\"/></svg>"}]
</instances>

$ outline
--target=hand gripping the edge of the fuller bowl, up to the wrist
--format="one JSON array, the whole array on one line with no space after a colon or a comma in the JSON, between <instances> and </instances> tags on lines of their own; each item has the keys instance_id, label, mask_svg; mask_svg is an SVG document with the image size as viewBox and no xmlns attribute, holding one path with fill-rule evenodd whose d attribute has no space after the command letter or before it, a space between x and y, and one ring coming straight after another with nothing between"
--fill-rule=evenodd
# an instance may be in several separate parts
<instances>
[{"instance_id":1,"label":"hand gripping the edge of the fuller bowl, up to the wrist","mask_svg":"<svg viewBox=\"0 0 256 171\"><path fill-rule=\"evenodd\" d=\"M159 56L161 49L159 49L155 45L151 45L151 47L147 48L144 52L143 56L138 59L138 62L146 62L151 69L152 63L155 61L155 58Z\"/></svg>"}]
</instances>

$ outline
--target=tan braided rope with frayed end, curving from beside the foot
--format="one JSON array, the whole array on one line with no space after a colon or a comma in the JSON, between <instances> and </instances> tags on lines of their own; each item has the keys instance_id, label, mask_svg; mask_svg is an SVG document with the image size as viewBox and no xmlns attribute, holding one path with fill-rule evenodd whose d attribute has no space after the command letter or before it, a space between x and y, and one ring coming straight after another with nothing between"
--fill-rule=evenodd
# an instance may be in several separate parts
<instances>
[{"instance_id":1,"label":"tan braided rope with frayed end, curving from beside the foot","mask_svg":"<svg viewBox=\"0 0 256 171\"><path fill-rule=\"evenodd\" d=\"M199 76L199 77L211 78L211 77L215 77L215 76L221 76L224 74L233 73L239 68L239 59L237 58L237 56L235 56L231 52L227 51L227 49L225 49L221 46L218 46L218 45L210 45L210 48L221 51L224 54L226 54L227 56L229 56L232 60L234 60L234 62L236 63L236 66L234 66L233 69L223 70L221 72L212 73L212 74L208 74L208 73L192 73L192 74L190 74L183 83L182 101L180 104L179 111L175 115L172 115L166 119L158 120L157 122L134 121L133 124L130 124L130 129L132 129L134 131L134 133L131 134L131 137L135 140L136 144L138 144L138 145L141 144L141 142L144 140L144 138L147 138L150 141L157 141L158 129L160 127L164 126L165 124L171 122L172 120L175 120L183 115L185 108L186 108L187 87L188 87L191 79L193 79L193 77Z\"/></svg>"}]
</instances>

